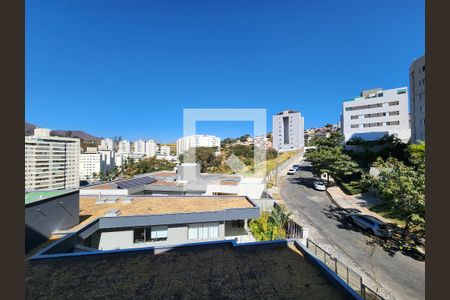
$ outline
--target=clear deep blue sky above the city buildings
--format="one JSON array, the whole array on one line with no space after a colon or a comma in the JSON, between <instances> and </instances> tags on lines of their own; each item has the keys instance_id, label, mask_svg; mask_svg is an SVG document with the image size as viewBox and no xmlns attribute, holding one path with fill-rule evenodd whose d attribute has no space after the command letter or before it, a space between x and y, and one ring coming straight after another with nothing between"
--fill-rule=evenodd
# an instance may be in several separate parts
<instances>
[{"instance_id":1,"label":"clear deep blue sky above the city buildings","mask_svg":"<svg viewBox=\"0 0 450 300\"><path fill-rule=\"evenodd\" d=\"M182 135L183 108L339 121L361 89L408 85L423 0L26 1L25 119L100 137ZM246 122L201 122L239 136ZM206 124L203 124L206 123Z\"/></svg>"}]
</instances>

